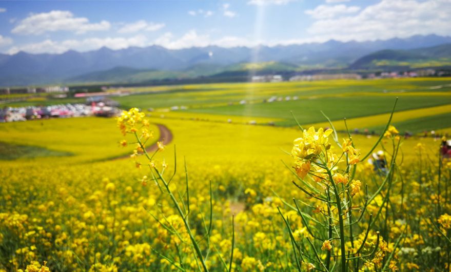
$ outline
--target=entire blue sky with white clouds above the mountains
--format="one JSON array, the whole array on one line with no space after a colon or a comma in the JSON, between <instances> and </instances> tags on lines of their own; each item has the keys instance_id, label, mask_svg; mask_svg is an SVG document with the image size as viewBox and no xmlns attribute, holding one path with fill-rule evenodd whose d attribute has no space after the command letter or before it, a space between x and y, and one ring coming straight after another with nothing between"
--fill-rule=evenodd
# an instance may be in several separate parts
<instances>
[{"instance_id":1,"label":"entire blue sky with white clouds above the mountains","mask_svg":"<svg viewBox=\"0 0 451 272\"><path fill-rule=\"evenodd\" d=\"M373 41L451 36L451 0L3 1L0 52L15 54Z\"/></svg>"}]
</instances>

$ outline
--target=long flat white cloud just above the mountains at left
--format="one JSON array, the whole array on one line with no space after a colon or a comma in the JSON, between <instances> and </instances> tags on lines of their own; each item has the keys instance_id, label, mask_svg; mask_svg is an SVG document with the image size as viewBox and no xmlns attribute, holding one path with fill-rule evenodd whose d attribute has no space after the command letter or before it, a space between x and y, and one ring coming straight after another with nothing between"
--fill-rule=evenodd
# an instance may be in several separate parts
<instances>
[{"instance_id":1,"label":"long flat white cloud just above the mountains at left","mask_svg":"<svg viewBox=\"0 0 451 272\"><path fill-rule=\"evenodd\" d=\"M77 51L95 50L101 47L108 47L114 50L124 49L130 46L147 46L147 38L143 35L134 37L107 37L107 38L86 38L84 40L65 40L61 42L45 40L39 43L25 44L22 46L14 46L7 52L9 54L17 53L18 51L26 51L29 53L63 53L69 49Z\"/></svg>"}]
</instances>

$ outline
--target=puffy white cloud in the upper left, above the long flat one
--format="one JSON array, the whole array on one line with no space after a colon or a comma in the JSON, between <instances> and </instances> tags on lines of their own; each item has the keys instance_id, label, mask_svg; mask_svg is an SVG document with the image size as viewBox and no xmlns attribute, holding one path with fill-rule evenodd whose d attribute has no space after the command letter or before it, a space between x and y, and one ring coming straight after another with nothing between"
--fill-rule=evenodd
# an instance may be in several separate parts
<instances>
[{"instance_id":1,"label":"puffy white cloud in the upper left, above the long flat one","mask_svg":"<svg viewBox=\"0 0 451 272\"><path fill-rule=\"evenodd\" d=\"M16 34L42 34L54 31L74 31L82 34L88 31L108 30L110 23L89 23L88 18L74 17L72 12L52 10L47 13L30 14L15 26L11 32Z\"/></svg>"}]
</instances>

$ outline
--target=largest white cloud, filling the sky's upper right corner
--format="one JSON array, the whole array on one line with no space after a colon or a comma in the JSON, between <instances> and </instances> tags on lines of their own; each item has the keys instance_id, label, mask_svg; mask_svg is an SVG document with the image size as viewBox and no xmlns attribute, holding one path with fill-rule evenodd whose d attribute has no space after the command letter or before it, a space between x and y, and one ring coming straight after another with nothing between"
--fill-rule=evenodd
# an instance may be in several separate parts
<instances>
[{"instance_id":1,"label":"largest white cloud, filling the sky's upper right corner","mask_svg":"<svg viewBox=\"0 0 451 272\"><path fill-rule=\"evenodd\" d=\"M355 15L322 18L307 31L326 41L386 40L412 35L451 35L451 0L382 0Z\"/></svg>"}]
</instances>

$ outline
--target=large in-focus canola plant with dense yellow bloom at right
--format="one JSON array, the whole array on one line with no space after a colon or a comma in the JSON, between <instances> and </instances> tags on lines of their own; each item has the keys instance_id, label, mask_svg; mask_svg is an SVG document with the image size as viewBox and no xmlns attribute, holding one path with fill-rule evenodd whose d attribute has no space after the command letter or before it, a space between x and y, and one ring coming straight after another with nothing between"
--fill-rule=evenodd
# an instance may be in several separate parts
<instances>
[{"instance_id":1,"label":"large in-focus canola plant with dense yellow bloom at right","mask_svg":"<svg viewBox=\"0 0 451 272\"><path fill-rule=\"evenodd\" d=\"M371 216L366 235L358 246L359 240L356 239L355 230L352 226L359 223L362 216L358 220L353 219L355 218L356 211L362 213L368 206L367 201L363 207L354 204L359 199L357 196L361 197L360 188L362 183L360 180L354 179L357 164L360 162L360 152L354 147L352 139L349 138L343 139L341 145L337 139L334 139L341 149L341 153L335 153L335 148L329 142L329 136L332 132L331 129L323 130L322 128L316 131L313 127L304 129L302 137L293 141L291 151L291 156L295 159L293 166L294 172L297 174L300 182L298 184L293 181L293 184L306 193L308 198L316 199L324 203L324 208L321 207L323 205L316 205L316 208L312 210L313 214L323 217L321 221L327 222L320 227L327 230L327 240L323 240L321 244L321 250L326 251L327 254L325 256L325 262L321 258L318 258L319 264L326 271L332 266L331 262L335 262L332 267L340 267L340 271L347 271L348 269L359 270L361 268L365 270L373 267L377 269L388 267L390 270L396 271L398 267L393 260L393 255L390 255L389 259L385 259L386 255L384 252L386 251L386 244L383 237L379 235L379 232L377 232L377 241L372 246L371 253L363 254L371 227L370 224L372 223ZM398 131L394 126L389 126L386 135L387 133L396 135ZM396 153L394 156L396 157ZM389 179L393 178L393 176L390 176L390 173L370 200L378 197L379 192L384 188L387 181L389 186L391 186L391 180ZM293 199L293 201L295 202L299 215L303 217L303 211L298 206L298 201L296 199ZM381 209L379 209L377 216L380 215L380 211ZM304 218L303 220L308 224ZM318 218L315 221L320 222L318 220L320 219ZM285 220L288 230L291 231L288 222L288 220ZM309 230L309 234L313 238L318 239L318 237L321 237L318 231L313 231L312 229ZM403 232L401 232L397 244L402 234ZM332 241L337 241L339 245L337 247L332 246ZM312 247L315 247L313 242L310 240L308 242ZM296 241L293 240L292 243L295 259L298 259L297 255L300 255L302 262L302 256L306 253L302 253L300 248L296 248ZM363 267L360 267L361 265ZM301 266L298 265L297 268L301 271Z\"/></svg>"}]
</instances>

